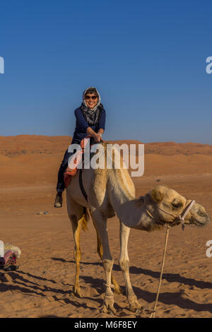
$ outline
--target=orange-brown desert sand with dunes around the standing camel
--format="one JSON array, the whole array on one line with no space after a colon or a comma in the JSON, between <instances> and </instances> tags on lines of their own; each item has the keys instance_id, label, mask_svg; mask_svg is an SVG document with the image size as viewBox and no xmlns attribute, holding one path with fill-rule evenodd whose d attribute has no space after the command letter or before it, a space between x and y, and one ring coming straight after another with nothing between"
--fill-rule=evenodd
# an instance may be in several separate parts
<instances>
[{"instance_id":1,"label":"orange-brown desert sand with dunes around the standing camel","mask_svg":"<svg viewBox=\"0 0 212 332\"><path fill-rule=\"evenodd\" d=\"M83 297L72 294L75 263L65 199L63 208L53 207L57 170L70 142L68 136L0 136L0 238L22 250L18 271L0 271L0 317L112 317L100 312L105 274L91 222L81 235ZM212 146L148 143L145 152L144 175L133 178L137 197L164 184L203 204L212 215ZM124 290L118 265L119 221L115 217L107 225L114 275ZM211 230L212 223L203 229L170 230L156 316L212 317L212 257L206 256ZM131 283L144 310L141 315L130 312L125 295L115 294L113 317L149 316L164 240L165 231L131 230Z\"/></svg>"}]
</instances>

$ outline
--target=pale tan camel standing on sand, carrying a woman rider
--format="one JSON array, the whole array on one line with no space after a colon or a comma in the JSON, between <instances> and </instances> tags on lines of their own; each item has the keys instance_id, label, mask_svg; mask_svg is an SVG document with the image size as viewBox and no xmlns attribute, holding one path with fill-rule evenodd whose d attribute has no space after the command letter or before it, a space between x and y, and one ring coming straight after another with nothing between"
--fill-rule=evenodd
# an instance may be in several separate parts
<instances>
[{"instance_id":1,"label":"pale tan camel standing on sand, carrying a woman rider","mask_svg":"<svg viewBox=\"0 0 212 332\"><path fill-rule=\"evenodd\" d=\"M102 143L103 153L106 154L107 143ZM73 229L75 243L73 256L76 261L76 277L73 293L81 297L79 285L79 263L81 261L80 234L81 228L86 229L88 215L93 220L98 239L98 254L105 270L105 299L102 312L113 312L114 297L112 287L117 293L121 292L117 281L112 275L113 259L110 253L107 235L107 218L115 214L119 218L120 255L119 266L122 269L126 284L126 297L129 309L132 312L141 311L141 304L134 294L129 278L129 256L127 244L131 228L151 232L163 229L164 225L170 227L179 225L179 215L191 202L174 189L165 186L156 186L145 196L136 198L132 179L123 165L119 169L114 167L114 156L119 153L116 148L112 151L112 169L84 169L82 171L83 187L87 199L83 196L79 185L79 171L71 179L66 189L66 204L69 219ZM102 155L103 157L103 155ZM100 158L102 158L100 155ZM88 212L89 211L89 212ZM204 206L194 203L187 214L184 223L203 227L210 221Z\"/></svg>"}]
</instances>

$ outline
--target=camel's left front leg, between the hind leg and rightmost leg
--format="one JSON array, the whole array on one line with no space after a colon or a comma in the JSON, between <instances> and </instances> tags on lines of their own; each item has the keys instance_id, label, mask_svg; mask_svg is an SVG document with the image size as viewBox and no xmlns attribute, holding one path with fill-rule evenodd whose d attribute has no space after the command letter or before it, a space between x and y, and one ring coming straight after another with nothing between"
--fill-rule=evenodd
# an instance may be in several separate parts
<instances>
[{"instance_id":1,"label":"camel's left front leg, between the hind leg and rightmost leg","mask_svg":"<svg viewBox=\"0 0 212 332\"><path fill-rule=\"evenodd\" d=\"M106 291L105 291L105 299L102 307L102 312L110 312L115 313L115 309L113 307L114 297L113 292L111 290L111 274L112 274L112 266L113 259L110 254L110 247L108 242L107 235L107 218L100 211L94 211L93 222L95 223L96 230L98 231L98 235L100 237L100 242L102 243L102 263L105 270L105 278L106 278Z\"/></svg>"}]
</instances>

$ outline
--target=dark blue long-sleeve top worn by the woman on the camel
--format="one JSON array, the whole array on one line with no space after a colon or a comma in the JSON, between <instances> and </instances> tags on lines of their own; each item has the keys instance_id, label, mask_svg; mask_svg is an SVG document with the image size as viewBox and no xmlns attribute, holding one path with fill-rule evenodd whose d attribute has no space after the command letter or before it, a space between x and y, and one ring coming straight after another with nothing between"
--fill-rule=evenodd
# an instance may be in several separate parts
<instances>
[{"instance_id":1,"label":"dark blue long-sleeve top worn by the woman on the camel","mask_svg":"<svg viewBox=\"0 0 212 332\"><path fill-rule=\"evenodd\" d=\"M92 128L93 131L95 131L96 133L98 133L99 129L105 130L106 112L104 108L102 108L98 124L94 124L93 126L88 125L86 119L83 116L83 112L81 111L81 107L75 109L74 114L76 117L76 126L75 126L75 131L73 133L72 143L79 144L81 140L88 135L86 132L88 127Z\"/></svg>"}]
</instances>

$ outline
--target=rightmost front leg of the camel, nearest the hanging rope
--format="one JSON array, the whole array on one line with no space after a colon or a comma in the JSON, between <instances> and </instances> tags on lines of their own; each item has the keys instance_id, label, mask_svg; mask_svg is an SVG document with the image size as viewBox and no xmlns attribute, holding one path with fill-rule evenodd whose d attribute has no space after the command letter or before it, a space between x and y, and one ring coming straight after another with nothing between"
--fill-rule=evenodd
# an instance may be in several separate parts
<instances>
[{"instance_id":1,"label":"rightmost front leg of the camel, nearest the hanging rope","mask_svg":"<svg viewBox=\"0 0 212 332\"><path fill-rule=\"evenodd\" d=\"M129 239L130 228L126 227L120 221L120 256L119 256L119 266L122 269L124 275L124 280L126 284L126 297L129 302L129 309L132 312L141 312L141 304L137 300L134 290L131 287L131 282L129 278L129 256L127 250L127 244Z\"/></svg>"}]
</instances>

